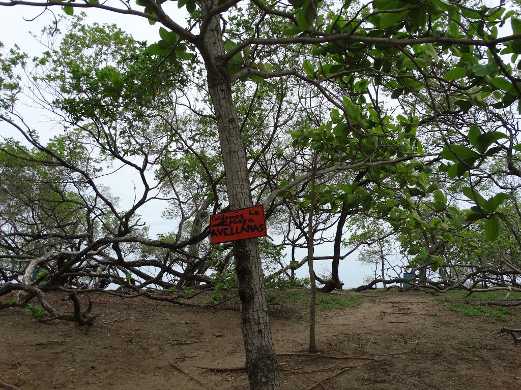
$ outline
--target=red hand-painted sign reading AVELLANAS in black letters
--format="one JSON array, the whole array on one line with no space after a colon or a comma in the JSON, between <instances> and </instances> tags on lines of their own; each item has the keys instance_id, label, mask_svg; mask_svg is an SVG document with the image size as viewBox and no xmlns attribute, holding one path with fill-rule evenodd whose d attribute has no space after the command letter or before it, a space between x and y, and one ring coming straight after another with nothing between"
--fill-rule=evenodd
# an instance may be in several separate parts
<instances>
[{"instance_id":1,"label":"red hand-painted sign reading AVELLANAS in black letters","mask_svg":"<svg viewBox=\"0 0 521 390\"><path fill-rule=\"evenodd\" d=\"M210 215L212 244L266 236L264 206Z\"/></svg>"}]
</instances>

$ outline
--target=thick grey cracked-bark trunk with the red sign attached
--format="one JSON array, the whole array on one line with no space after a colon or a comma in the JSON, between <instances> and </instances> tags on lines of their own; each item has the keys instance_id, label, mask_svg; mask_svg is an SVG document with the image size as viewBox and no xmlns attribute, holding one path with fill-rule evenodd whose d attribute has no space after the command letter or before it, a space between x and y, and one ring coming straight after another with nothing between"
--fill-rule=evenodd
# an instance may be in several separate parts
<instances>
[{"instance_id":1,"label":"thick grey cracked-bark trunk with the red sign attached","mask_svg":"<svg viewBox=\"0 0 521 390\"><path fill-rule=\"evenodd\" d=\"M217 0L204 0L201 3L203 18L210 9L217 6ZM203 42L200 42L200 50L217 118L230 209L249 207L253 202L246 153L235 113L219 15L210 20ZM242 334L250 389L278 390L279 371L271 337L257 240L235 241L233 251L239 280Z\"/></svg>"}]
</instances>

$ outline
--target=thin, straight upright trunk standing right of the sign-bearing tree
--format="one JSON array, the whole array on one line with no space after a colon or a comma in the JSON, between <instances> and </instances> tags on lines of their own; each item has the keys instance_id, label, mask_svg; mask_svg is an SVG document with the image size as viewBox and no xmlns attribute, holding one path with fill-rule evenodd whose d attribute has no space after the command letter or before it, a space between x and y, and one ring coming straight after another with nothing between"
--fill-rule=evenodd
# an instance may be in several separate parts
<instances>
[{"instance_id":1,"label":"thin, straight upright trunk standing right of the sign-bearing tree","mask_svg":"<svg viewBox=\"0 0 521 390\"><path fill-rule=\"evenodd\" d=\"M316 153L313 155L313 170L317 161ZM316 300L317 285L315 281L315 270L313 269L314 233L313 233L313 213L315 210L315 173L311 177L311 202L309 203L309 215L307 219L307 265L309 266L309 280L311 281L311 299L309 300L309 353L317 350L315 341L315 317L316 317Z\"/></svg>"}]
</instances>

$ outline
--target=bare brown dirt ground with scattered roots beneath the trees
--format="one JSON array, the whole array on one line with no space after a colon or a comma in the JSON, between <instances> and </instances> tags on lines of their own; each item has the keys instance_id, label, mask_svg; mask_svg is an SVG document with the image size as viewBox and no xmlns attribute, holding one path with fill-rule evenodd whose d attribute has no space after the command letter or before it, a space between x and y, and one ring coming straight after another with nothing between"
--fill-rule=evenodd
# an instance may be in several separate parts
<instances>
[{"instance_id":1,"label":"bare brown dirt ground with scattered roots beneath the trees","mask_svg":"<svg viewBox=\"0 0 521 390\"><path fill-rule=\"evenodd\" d=\"M270 307L282 389L521 389L521 348L498 334L520 327L521 310L493 323L424 293L361 295L356 308L318 307L321 353L311 356L308 304ZM92 300L100 315L89 332L37 322L19 307L0 310L0 382L23 390L248 388L238 310ZM51 301L72 310L59 296Z\"/></svg>"}]
</instances>

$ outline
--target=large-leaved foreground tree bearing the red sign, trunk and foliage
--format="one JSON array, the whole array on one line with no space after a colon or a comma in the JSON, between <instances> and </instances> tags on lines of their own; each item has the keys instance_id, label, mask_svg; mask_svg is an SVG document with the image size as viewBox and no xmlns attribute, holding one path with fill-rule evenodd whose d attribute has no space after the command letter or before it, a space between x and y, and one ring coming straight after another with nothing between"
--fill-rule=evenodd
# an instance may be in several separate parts
<instances>
[{"instance_id":1,"label":"large-leaved foreground tree bearing the red sign, trunk and foliage","mask_svg":"<svg viewBox=\"0 0 521 390\"><path fill-rule=\"evenodd\" d=\"M96 0L0 2L5 6L59 6L67 14L75 8L100 8L162 24L162 39L150 45L148 53L165 61L191 59L204 72L231 209L253 204L243 140L250 134L244 134L238 122L233 85L250 83L247 80L302 81L302 89L324 96L327 105L315 108L314 113L324 119L316 127L304 121L291 136L295 146L316 151L323 167L305 170L308 173L287 184L279 182L279 188L270 188L265 194L264 202L275 206L278 194L291 192L313 175L352 172L350 186L333 184L329 195L318 203L329 204L332 212L340 205L344 210L343 204L345 210L374 211L392 220L404 235L421 227L429 249L420 256L425 265L439 261L436 253L451 240L447 233L452 235L448 223L446 227L441 222L430 225L416 210L415 200L430 194L440 205L446 203L436 195L437 189L429 186L430 165L439 161L441 152L450 178L467 173L472 177L497 148L504 147L499 132L479 128L479 124L477 130L462 127L454 116L473 106L486 107L489 97L494 99L495 109L509 107L521 95L516 71L500 56L500 52L513 54L516 61L521 22L502 4L478 9L466 2L441 0L375 0L371 7L309 0L292 1L291 6L262 0L245 5L235 0L188 0L178 2L190 13L187 27L169 18L166 3L139 0L137 9L121 4L117 8ZM498 37L497 26L509 20L513 35ZM194 57L193 51L200 57ZM161 64L159 61L154 74L168 81ZM118 97L121 82L117 73L107 71L109 74L98 76L98 80L109 94ZM143 89L150 90L147 86ZM313 95L311 106L316 101ZM394 115L386 108L389 97L399 99L404 111ZM6 120L5 115L0 118ZM418 130L438 133L441 144L424 153ZM130 140L129 146L139 149L141 141ZM517 151L513 145L508 150L512 155ZM497 210L485 209L476 196L470 199L484 211L480 216L492 221L489 230L496 231ZM128 235L134 211L119 221L121 237ZM451 225L458 224L457 215L450 210L444 215ZM114 250L118 252L117 244ZM237 241L233 251L251 388L279 388L258 243Z\"/></svg>"}]
</instances>

